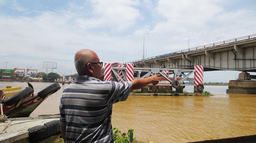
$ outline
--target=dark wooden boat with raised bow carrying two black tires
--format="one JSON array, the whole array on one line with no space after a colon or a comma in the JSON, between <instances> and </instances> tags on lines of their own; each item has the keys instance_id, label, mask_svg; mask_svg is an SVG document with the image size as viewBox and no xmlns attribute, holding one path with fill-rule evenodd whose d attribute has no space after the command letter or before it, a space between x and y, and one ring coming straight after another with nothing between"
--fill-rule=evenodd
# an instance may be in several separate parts
<instances>
[{"instance_id":1,"label":"dark wooden boat with raised bow carrying two black tires","mask_svg":"<svg viewBox=\"0 0 256 143\"><path fill-rule=\"evenodd\" d=\"M59 83L54 83L34 95L33 86L29 82L28 85L29 87L21 92L0 101L3 105L3 114L9 118L28 117L48 96L61 88ZM1 99L3 96L3 92L0 91Z\"/></svg>"}]
</instances>

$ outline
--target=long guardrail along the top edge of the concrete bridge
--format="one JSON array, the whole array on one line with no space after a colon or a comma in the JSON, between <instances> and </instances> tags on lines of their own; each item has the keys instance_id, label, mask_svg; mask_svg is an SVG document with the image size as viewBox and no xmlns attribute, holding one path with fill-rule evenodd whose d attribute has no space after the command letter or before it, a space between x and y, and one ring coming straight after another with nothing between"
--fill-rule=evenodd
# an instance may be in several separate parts
<instances>
[{"instance_id":1,"label":"long guardrail along the top edge of the concrete bridge","mask_svg":"<svg viewBox=\"0 0 256 143\"><path fill-rule=\"evenodd\" d=\"M153 56L153 57L148 57L148 58L145 58L144 60L139 59L139 60L135 60L135 61L131 61L131 62L125 62L123 64L133 63L133 62L140 62L140 61L145 61L145 60L149 60L149 59L158 59L158 58L166 57L166 56L175 56L175 55L181 54L183 52L189 52L189 51L192 51L192 50L209 48L209 47L213 47L213 46L216 46L216 45L228 44L228 43L231 43L231 42L237 42L237 41L251 39L251 38L256 38L256 34L247 35L247 36L238 37L238 38L235 38L235 39L229 39L229 40L220 41L220 42L215 42L215 43L211 43L211 44L206 44L206 45L202 45L202 46L198 46L198 47L192 47L192 48L189 48L189 49L178 50L178 51L172 52L172 53L166 53L166 54L161 54L161 55L157 55L157 56Z\"/></svg>"}]
</instances>

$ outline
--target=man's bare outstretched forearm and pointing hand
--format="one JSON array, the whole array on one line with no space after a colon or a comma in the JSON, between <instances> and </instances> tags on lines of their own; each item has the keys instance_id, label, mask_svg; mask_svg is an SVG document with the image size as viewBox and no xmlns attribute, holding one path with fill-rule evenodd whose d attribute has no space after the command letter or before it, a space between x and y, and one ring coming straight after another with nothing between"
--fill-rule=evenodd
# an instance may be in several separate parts
<instances>
[{"instance_id":1,"label":"man's bare outstretched forearm and pointing hand","mask_svg":"<svg viewBox=\"0 0 256 143\"><path fill-rule=\"evenodd\" d=\"M158 77L161 76L160 74L156 74L154 76L150 76L144 79L135 79L133 81L131 81L131 90L133 89L141 89L144 86L147 86L148 84L153 84L156 85L159 82Z\"/></svg>"}]
</instances>

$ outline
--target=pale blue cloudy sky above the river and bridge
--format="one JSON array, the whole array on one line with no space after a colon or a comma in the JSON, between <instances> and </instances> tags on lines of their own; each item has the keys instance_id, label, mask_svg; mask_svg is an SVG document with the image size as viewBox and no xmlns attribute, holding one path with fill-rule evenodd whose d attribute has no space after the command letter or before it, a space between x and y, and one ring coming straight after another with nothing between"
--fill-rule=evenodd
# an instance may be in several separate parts
<instances>
[{"instance_id":1,"label":"pale blue cloudy sky above the river and bridge","mask_svg":"<svg viewBox=\"0 0 256 143\"><path fill-rule=\"evenodd\" d=\"M147 57L256 34L255 7L255 0L0 0L0 68L46 72L49 61L54 72L74 74L80 49L102 62L142 59L145 34ZM204 81L238 74L204 72Z\"/></svg>"}]
</instances>

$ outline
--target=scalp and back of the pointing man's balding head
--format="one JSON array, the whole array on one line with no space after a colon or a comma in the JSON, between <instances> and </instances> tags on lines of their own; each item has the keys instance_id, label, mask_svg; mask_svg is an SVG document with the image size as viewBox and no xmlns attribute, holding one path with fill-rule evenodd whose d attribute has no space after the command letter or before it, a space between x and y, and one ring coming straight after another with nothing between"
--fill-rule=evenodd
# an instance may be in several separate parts
<instances>
[{"instance_id":1,"label":"scalp and back of the pointing man's balding head","mask_svg":"<svg viewBox=\"0 0 256 143\"><path fill-rule=\"evenodd\" d=\"M74 64L79 76L90 75L86 70L86 65L90 62L96 62L99 57L95 52L89 49L82 49L76 52Z\"/></svg>"}]
</instances>

